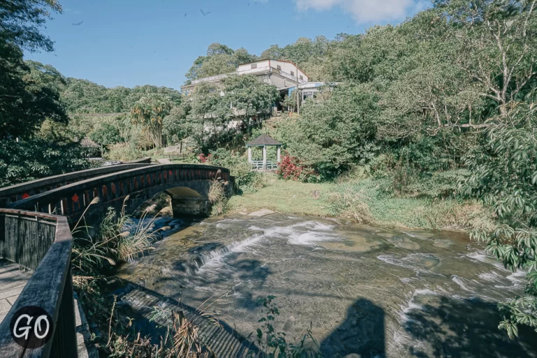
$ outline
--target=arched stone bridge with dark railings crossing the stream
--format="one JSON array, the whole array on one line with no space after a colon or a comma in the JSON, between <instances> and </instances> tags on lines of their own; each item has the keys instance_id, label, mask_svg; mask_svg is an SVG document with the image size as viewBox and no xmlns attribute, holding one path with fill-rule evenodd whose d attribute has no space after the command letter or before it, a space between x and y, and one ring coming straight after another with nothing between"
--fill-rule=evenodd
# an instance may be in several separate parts
<instances>
[{"instance_id":1,"label":"arched stone bridge with dark railings crossing the stream","mask_svg":"<svg viewBox=\"0 0 537 358\"><path fill-rule=\"evenodd\" d=\"M131 214L152 196L171 196L173 215L207 215L211 182L219 180L230 196L233 178L229 169L200 164L120 164L64 174L0 189L0 207L64 215L76 223L84 213L87 222L98 222L108 207ZM87 208L94 198L99 203Z\"/></svg>"}]
</instances>

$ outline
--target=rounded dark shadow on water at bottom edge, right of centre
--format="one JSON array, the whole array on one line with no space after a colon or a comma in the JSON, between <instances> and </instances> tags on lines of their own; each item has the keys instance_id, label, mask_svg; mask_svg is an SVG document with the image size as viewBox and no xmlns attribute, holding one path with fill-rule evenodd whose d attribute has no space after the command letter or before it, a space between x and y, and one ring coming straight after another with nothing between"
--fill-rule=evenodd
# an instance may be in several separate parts
<instances>
[{"instance_id":1,"label":"rounded dark shadow on water at bottom edge, right of centre","mask_svg":"<svg viewBox=\"0 0 537 358\"><path fill-rule=\"evenodd\" d=\"M368 299L357 299L345 321L320 343L323 357L385 357L384 310Z\"/></svg>"}]
</instances>

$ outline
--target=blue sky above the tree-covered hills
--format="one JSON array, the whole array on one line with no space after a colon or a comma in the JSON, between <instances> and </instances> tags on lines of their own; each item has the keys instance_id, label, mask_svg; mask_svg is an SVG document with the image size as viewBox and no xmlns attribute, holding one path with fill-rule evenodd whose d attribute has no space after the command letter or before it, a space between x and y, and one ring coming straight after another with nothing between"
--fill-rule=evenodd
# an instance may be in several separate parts
<instances>
[{"instance_id":1,"label":"blue sky above the tree-covered hills","mask_svg":"<svg viewBox=\"0 0 537 358\"><path fill-rule=\"evenodd\" d=\"M106 87L177 90L194 59L223 43L261 55L299 37L361 34L399 23L426 0L60 0L43 32L55 52L24 57Z\"/></svg>"}]
</instances>

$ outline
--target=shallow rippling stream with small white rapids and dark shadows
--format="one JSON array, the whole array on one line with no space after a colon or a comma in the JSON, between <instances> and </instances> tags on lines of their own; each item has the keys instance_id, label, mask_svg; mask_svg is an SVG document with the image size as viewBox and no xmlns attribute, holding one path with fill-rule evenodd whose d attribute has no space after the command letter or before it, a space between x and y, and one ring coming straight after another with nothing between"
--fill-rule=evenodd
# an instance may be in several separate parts
<instances>
[{"instance_id":1,"label":"shallow rippling stream with small white rapids and dark shadows","mask_svg":"<svg viewBox=\"0 0 537 358\"><path fill-rule=\"evenodd\" d=\"M120 278L210 303L243 336L259 327L259 297L274 295L277 328L292 341L312 322L326 357L537 357L534 331L497 329L496 303L522 294L524 273L464 234L281 214L171 226Z\"/></svg>"}]
</instances>

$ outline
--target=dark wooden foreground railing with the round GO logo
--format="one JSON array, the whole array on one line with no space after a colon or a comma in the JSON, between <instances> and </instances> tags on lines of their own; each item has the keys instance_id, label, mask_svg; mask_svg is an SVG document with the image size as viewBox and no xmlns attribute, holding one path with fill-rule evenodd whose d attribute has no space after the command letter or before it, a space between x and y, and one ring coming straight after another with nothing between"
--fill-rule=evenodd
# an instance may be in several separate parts
<instances>
[{"instance_id":1,"label":"dark wooden foreground railing with the round GO logo","mask_svg":"<svg viewBox=\"0 0 537 358\"><path fill-rule=\"evenodd\" d=\"M0 324L1 357L77 357L72 242L66 217L0 209L1 256L35 269ZM43 308L53 330L50 341L31 350L15 343L10 327L15 313L28 306Z\"/></svg>"}]
</instances>

